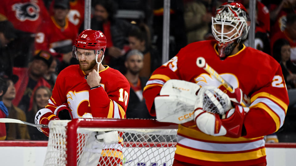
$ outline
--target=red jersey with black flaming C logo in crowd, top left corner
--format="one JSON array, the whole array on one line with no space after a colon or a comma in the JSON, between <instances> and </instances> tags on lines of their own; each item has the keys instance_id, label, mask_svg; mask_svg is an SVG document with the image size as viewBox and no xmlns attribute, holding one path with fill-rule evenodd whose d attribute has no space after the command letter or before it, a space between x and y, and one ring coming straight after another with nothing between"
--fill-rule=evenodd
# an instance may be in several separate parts
<instances>
[{"instance_id":1,"label":"red jersey with black flaming C logo in crowd, top left corner","mask_svg":"<svg viewBox=\"0 0 296 166\"><path fill-rule=\"evenodd\" d=\"M49 18L43 0L5 0L0 5L1 15L12 22L15 29L36 33L43 20Z\"/></svg>"}]
</instances>

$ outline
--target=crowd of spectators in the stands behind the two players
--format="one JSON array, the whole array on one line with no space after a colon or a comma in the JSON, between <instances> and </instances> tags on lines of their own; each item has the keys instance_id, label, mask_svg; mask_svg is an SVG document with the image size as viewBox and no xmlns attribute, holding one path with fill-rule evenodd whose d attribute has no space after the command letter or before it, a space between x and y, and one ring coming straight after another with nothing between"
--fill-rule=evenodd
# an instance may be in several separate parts
<instances>
[{"instance_id":1,"label":"crowd of spectators in the stands behind the two players","mask_svg":"<svg viewBox=\"0 0 296 166\"><path fill-rule=\"evenodd\" d=\"M171 0L169 57L189 43L213 39L211 17L223 2ZM237 2L249 8L249 0ZM296 136L295 7L296 0L256 1L255 48L281 64L289 93L286 121L277 133L282 142L292 142L291 136ZM129 15L129 11L139 14ZM151 73L162 65L162 26L163 1L92 0L91 29L101 30L107 39L104 64L123 73L131 85L127 118L155 118L148 113L142 91ZM72 45L82 30L84 0L2 2L0 118L34 123L35 113L51 97L58 73L78 64ZM247 40L244 43L249 45ZM0 140L15 139L47 137L31 126L0 124Z\"/></svg>"}]
</instances>

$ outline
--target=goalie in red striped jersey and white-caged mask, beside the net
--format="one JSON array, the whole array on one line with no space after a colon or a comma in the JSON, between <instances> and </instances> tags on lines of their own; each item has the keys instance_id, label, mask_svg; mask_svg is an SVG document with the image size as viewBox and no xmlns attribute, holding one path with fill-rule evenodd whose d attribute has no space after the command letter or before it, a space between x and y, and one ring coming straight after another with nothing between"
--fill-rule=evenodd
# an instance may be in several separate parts
<instances>
[{"instance_id":1,"label":"goalie in red striped jersey and white-caged mask, beside the net","mask_svg":"<svg viewBox=\"0 0 296 166\"><path fill-rule=\"evenodd\" d=\"M264 136L283 125L289 99L278 62L242 44L248 35L249 22L243 5L222 4L212 17L215 40L199 41L182 48L156 69L147 82L143 96L153 116L156 115L154 98L170 79L194 82L201 87L211 85L230 95L219 81L196 65L197 57L201 56L239 92L234 93L236 97L242 91L251 98L249 107L233 104L235 108L230 109L233 112L228 111L230 116L224 119L199 109L192 110L194 120L179 124L173 166L266 165ZM214 120L209 118L211 116Z\"/></svg>"}]
</instances>

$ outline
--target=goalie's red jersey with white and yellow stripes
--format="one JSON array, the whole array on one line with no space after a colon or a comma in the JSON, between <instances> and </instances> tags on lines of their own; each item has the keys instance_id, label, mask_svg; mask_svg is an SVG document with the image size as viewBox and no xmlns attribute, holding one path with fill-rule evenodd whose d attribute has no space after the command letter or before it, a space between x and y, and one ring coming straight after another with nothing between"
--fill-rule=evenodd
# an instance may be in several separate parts
<instances>
[{"instance_id":1,"label":"goalie's red jersey with white and yellow stripes","mask_svg":"<svg viewBox=\"0 0 296 166\"><path fill-rule=\"evenodd\" d=\"M246 132L239 138L211 136L200 132L194 121L180 124L175 159L207 166L265 165L263 136L283 125L289 103L281 66L271 56L245 45L225 60L220 60L214 48L214 40L191 43L156 69L143 92L148 110L155 116L154 98L170 79L220 87L219 81L196 65L197 57L204 57L232 87L241 88L251 97L244 120Z\"/></svg>"}]
</instances>

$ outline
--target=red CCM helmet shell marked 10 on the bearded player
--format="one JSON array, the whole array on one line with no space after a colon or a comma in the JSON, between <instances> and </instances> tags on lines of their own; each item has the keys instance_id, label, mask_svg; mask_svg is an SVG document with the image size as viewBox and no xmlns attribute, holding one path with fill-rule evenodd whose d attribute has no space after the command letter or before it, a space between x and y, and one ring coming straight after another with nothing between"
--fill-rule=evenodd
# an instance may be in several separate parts
<instances>
[{"instance_id":1,"label":"red CCM helmet shell marked 10 on the bearded player","mask_svg":"<svg viewBox=\"0 0 296 166\"><path fill-rule=\"evenodd\" d=\"M73 46L73 57L76 57L77 48L81 49L92 49L97 54L103 49L103 54L106 49L106 37L103 32L99 30L87 29L82 31L75 40ZM95 59L95 58L94 58Z\"/></svg>"}]
</instances>

